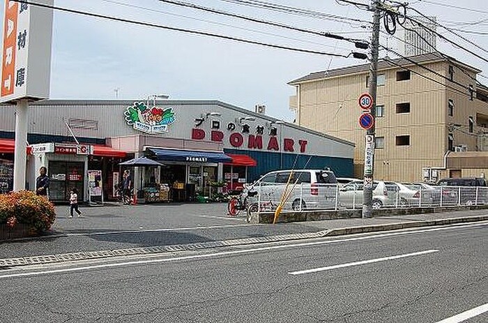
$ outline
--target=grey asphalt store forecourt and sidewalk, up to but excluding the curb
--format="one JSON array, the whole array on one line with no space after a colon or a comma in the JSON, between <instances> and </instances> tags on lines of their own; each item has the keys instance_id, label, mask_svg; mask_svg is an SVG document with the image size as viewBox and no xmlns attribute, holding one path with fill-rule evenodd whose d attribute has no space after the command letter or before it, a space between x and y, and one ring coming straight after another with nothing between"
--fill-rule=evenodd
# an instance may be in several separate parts
<instances>
[{"instance_id":1,"label":"grey asphalt store forecourt and sidewalk, up to but excluding the curb","mask_svg":"<svg viewBox=\"0 0 488 323\"><path fill-rule=\"evenodd\" d=\"M252 225L245 216L227 216L227 204L162 204L82 207L83 218L68 218L68 207L58 206L52 234L40 239L0 242L0 258L77 253L137 247L169 246L282 234L299 234L411 220L485 215L486 210L384 216Z\"/></svg>"}]
</instances>

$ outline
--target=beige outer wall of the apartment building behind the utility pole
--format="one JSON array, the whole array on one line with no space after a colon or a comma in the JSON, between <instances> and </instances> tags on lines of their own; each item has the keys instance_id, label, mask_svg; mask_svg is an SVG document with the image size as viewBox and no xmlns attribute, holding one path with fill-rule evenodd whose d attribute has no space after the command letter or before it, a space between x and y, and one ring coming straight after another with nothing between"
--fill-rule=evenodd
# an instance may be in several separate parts
<instances>
[{"instance_id":1,"label":"beige outer wall of the apartment building behind the utility pole","mask_svg":"<svg viewBox=\"0 0 488 323\"><path fill-rule=\"evenodd\" d=\"M427 63L425 66L448 76L447 62ZM468 116L475 118L477 111L482 111L480 109L488 112L487 103L476 99L470 101L468 96L448 89L457 86L443 77L419 66L409 66L409 69L439 83L415 73L411 73L411 80L397 81L397 68L379 71L385 75L386 84L378 87L377 105L384 105L385 116L376 118L376 136L384 137L385 145L384 149L376 149L376 179L420 181L422 167L443 167L443 156L448 149L448 123L464 125L453 130L454 144L467 144L468 149L475 150L477 137L466 134ZM358 107L358 96L367 91L367 75L330 77L303 82L297 87L300 126L356 143L354 161L358 177L363 175L365 149L365 130L358 125L362 113ZM473 72L470 76L475 77ZM457 68L455 81L466 84L466 87L473 84L473 80ZM455 100L454 117L448 117L448 98ZM397 114L396 104L406 102L411 105L410 113ZM410 145L397 146L395 137L398 135L410 135Z\"/></svg>"}]
</instances>

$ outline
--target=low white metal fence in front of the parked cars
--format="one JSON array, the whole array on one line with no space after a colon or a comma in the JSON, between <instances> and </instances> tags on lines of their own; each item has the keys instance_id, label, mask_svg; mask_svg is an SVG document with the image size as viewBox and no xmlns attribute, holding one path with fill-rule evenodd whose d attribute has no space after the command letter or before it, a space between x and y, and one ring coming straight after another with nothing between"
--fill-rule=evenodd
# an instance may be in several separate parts
<instances>
[{"instance_id":1,"label":"low white metal fence in front of the parked cars","mask_svg":"<svg viewBox=\"0 0 488 323\"><path fill-rule=\"evenodd\" d=\"M257 196L248 198L254 210L275 211L283 200L284 211L353 210L363 208L363 190L336 184L301 183L259 184L252 190ZM376 186L373 190L373 208L405 208L432 206L460 206L488 204L488 187L433 186L432 189L399 189Z\"/></svg>"}]
</instances>

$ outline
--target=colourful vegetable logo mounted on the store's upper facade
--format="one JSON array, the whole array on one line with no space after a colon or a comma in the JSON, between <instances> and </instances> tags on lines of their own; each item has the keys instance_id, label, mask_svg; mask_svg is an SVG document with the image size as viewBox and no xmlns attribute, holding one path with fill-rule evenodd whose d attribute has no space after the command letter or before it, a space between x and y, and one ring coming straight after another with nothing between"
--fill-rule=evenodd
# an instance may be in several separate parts
<instances>
[{"instance_id":1,"label":"colourful vegetable logo mounted on the store's upper facade","mask_svg":"<svg viewBox=\"0 0 488 323\"><path fill-rule=\"evenodd\" d=\"M135 130L153 134L166 133L168 125L176 120L172 107L149 108L144 102L135 102L125 110L124 115L127 124Z\"/></svg>"}]
</instances>

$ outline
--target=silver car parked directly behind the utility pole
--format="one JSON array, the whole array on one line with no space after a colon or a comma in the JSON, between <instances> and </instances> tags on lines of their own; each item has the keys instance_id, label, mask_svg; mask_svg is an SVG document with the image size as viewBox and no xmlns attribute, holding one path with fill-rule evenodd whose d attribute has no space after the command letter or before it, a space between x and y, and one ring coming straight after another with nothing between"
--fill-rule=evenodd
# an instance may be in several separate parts
<instances>
[{"instance_id":1,"label":"silver car parked directly behind the utility pole","mask_svg":"<svg viewBox=\"0 0 488 323\"><path fill-rule=\"evenodd\" d=\"M357 209L363 204L364 183L355 180L347 183L339 191L339 204L346 209ZM380 209L384 206L392 206L392 197L388 193L384 181L373 182L373 209Z\"/></svg>"}]
</instances>

